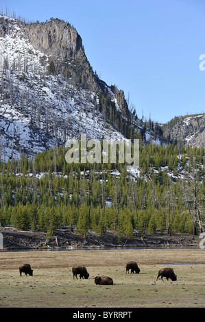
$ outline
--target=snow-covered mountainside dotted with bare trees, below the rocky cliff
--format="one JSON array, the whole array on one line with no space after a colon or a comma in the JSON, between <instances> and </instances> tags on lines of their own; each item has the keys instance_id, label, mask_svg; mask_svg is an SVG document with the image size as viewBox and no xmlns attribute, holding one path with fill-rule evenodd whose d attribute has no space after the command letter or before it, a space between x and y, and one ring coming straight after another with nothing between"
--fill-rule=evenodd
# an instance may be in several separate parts
<instances>
[{"instance_id":1,"label":"snow-covered mountainside dotted with bare trees, below the rocky cliff","mask_svg":"<svg viewBox=\"0 0 205 322\"><path fill-rule=\"evenodd\" d=\"M94 92L47 75L47 55L23 38L16 20L1 18L10 25L9 34L0 38L1 159L19 157L22 151L34 155L84 133L87 138L125 139L96 110Z\"/></svg>"}]
</instances>

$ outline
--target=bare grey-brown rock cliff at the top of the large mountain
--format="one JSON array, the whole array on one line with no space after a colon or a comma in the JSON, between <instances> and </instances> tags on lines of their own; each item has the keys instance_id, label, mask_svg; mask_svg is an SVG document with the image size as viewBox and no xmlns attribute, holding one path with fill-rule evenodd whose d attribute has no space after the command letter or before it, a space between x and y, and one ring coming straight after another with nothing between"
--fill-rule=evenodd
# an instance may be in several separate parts
<instances>
[{"instance_id":1,"label":"bare grey-brown rock cliff at the top of the large mountain","mask_svg":"<svg viewBox=\"0 0 205 322\"><path fill-rule=\"evenodd\" d=\"M115 86L108 86L93 73L84 53L82 38L69 23L58 18L52 18L47 23L29 23L25 25L25 35L34 49L45 53L49 62L53 61L57 74L80 88L93 92L101 90L105 96L110 95L111 90L118 107L128 114L124 92Z\"/></svg>"}]
</instances>

